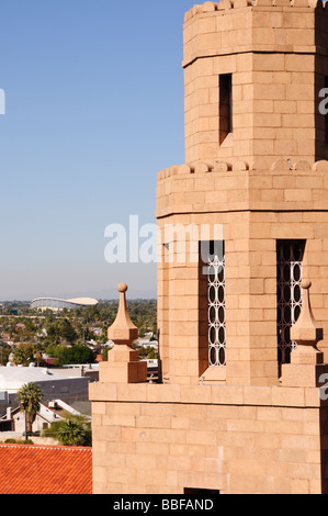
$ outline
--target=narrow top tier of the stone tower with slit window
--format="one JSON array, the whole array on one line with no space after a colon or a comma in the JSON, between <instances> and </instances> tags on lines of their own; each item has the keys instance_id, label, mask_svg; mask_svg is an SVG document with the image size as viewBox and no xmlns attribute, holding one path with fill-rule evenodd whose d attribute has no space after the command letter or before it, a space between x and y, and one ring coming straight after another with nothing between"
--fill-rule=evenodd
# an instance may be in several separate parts
<instances>
[{"instance_id":1,"label":"narrow top tier of the stone tower with slit window","mask_svg":"<svg viewBox=\"0 0 328 516\"><path fill-rule=\"evenodd\" d=\"M327 11L308 0L222 0L185 15L185 160L271 167L327 159Z\"/></svg>"}]
</instances>

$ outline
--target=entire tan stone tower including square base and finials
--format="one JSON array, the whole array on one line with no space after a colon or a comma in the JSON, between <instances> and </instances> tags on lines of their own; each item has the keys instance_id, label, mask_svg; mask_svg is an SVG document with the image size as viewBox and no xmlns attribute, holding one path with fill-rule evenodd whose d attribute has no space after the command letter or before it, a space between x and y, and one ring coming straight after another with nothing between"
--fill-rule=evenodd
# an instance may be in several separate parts
<instances>
[{"instance_id":1,"label":"entire tan stone tower including square base and finials","mask_svg":"<svg viewBox=\"0 0 328 516\"><path fill-rule=\"evenodd\" d=\"M185 14L185 164L157 182L161 374L129 347L121 285L90 385L95 494L328 493L326 5Z\"/></svg>"}]
</instances>

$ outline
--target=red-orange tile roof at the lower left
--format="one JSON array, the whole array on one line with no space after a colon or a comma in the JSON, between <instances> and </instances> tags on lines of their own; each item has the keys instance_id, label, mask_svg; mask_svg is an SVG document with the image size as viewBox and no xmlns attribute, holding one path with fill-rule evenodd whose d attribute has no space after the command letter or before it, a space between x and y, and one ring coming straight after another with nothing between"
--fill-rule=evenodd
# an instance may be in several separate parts
<instances>
[{"instance_id":1,"label":"red-orange tile roof at the lower left","mask_svg":"<svg viewBox=\"0 0 328 516\"><path fill-rule=\"evenodd\" d=\"M92 494L91 448L0 444L0 494Z\"/></svg>"}]
</instances>

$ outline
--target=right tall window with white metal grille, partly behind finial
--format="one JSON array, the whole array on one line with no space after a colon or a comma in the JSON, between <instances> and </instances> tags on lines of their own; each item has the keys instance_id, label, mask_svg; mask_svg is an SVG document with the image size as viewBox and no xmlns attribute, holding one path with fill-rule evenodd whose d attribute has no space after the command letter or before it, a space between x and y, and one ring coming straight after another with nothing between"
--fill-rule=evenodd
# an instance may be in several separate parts
<instances>
[{"instance_id":1,"label":"right tall window with white metal grille, partly behind finial","mask_svg":"<svg viewBox=\"0 0 328 516\"><path fill-rule=\"evenodd\" d=\"M279 240L276 246L279 363L290 363L291 352L297 346L291 340L291 327L302 310L304 249L304 240Z\"/></svg>"}]
</instances>

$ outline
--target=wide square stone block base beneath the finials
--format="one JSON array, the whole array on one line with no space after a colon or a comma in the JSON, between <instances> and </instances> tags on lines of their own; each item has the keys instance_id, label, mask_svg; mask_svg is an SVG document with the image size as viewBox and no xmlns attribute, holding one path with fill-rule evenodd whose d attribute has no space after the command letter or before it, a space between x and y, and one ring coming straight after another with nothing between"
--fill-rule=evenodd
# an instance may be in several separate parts
<instances>
[{"instance_id":1,"label":"wide square stone block base beneath the finials","mask_svg":"<svg viewBox=\"0 0 328 516\"><path fill-rule=\"evenodd\" d=\"M90 397L94 494L327 493L319 389L99 383Z\"/></svg>"}]
</instances>

